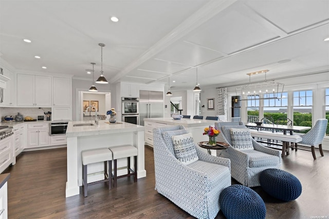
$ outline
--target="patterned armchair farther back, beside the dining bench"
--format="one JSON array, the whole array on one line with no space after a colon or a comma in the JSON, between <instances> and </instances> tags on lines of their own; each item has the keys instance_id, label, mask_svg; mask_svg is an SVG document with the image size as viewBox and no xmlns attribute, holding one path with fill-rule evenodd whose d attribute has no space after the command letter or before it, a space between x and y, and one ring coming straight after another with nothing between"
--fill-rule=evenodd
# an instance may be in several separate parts
<instances>
[{"instance_id":1,"label":"patterned armchair farther back, beside the dining bench","mask_svg":"<svg viewBox=\"0 0 329 219\"><path fill-rule=\"evenodd\" d=\"M239 150L232 147L230 128L246 128L243 122L215 122L220 130L217 141L231 145L226 150L218 150L217 156L231 160L232 178L247 187L260 186L259 175L263 170L281 167L281 151L266 148L251 138L252 149Z\"/></svg>"}]
</instances>

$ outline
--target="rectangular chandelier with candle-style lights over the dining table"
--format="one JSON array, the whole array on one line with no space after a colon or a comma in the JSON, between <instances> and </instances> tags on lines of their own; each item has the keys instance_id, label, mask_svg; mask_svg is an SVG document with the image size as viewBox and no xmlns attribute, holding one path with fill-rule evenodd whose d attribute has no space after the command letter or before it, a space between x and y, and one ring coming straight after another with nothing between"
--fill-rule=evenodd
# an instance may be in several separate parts
<instances>
[{"instance_id":1,"label":"rectangular chandelier with candle-style lights over the dining table","mask_svg":"<svg viewBox=\"0 0 329 219\"><path fill-rule=\"evenodd\" d=\"M264 100L264 99L281 99L284 84L273 80L266 80L266 72L269 70L261 70L248 73L249 83L235 88L236 96L241 96L241 100ZM265 80L261 82L251 83L250 77L265 73Z\"/></svg>"}]
</instances>

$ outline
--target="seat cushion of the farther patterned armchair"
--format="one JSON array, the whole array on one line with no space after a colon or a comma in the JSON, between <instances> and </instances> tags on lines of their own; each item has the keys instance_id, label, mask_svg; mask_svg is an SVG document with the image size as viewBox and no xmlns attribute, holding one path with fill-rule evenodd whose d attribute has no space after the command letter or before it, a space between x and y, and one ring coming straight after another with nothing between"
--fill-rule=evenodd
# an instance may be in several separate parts
<instances>
[{"instance_id":1,"label":"seat cushion of the farther patterned armchair","mask_svg":"<svg viewBox=\"0 0 329 219\"><path fill-rule=\"evenodd\" d=\"M249 167L259 168L267 166L280 165L280 157L275 155L266 154L256 150L243 151L249 155Z\"/></svg>"}]
</instances>

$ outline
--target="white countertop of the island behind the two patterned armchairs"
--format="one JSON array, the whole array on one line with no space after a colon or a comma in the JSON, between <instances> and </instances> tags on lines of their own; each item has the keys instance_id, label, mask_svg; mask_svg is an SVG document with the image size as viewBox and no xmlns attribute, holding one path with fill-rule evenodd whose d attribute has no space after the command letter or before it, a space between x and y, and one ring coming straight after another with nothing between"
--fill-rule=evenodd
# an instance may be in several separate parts
<instances>
[{"instance_id":1,"label":"white countertop of the island behind the two patterned armchairs","mask_svg":"<svg viewBox=\"0 0 329 219\"><path fill-rule=\"evenodd\" d=\"M199 127L204 125L215 125L215 122L218 122L216 120L206 120L206 119L173 119L171 117L168 118L149 118L144 119L144 121L149 122L157 122L157 123L163 123L163 124L169 124L169 125L184 125L185 127Z\"/></svg>"}]
</instances>

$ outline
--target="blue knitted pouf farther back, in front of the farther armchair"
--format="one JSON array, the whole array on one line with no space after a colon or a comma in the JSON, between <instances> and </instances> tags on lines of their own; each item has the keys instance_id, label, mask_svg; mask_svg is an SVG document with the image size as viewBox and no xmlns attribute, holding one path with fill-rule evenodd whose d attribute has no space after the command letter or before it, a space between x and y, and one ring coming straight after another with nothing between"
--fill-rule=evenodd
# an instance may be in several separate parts
<instances>
[{"instance_id":1,"label":"blue knitted pouf farther back, in front of the farther armchair","mask_svg":"<svg viewBox=\"0 0 329 219\"><path fill-rule=\"evenodd\" d=\"M298 178L279 169L262 171L260 183L265 192L284 201L295 200L302 193L302 185Z\"/></svg>"}]
</instances>

